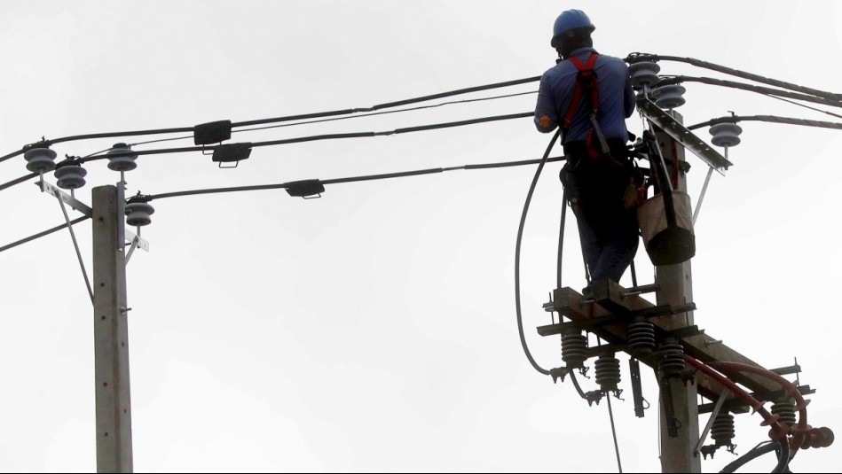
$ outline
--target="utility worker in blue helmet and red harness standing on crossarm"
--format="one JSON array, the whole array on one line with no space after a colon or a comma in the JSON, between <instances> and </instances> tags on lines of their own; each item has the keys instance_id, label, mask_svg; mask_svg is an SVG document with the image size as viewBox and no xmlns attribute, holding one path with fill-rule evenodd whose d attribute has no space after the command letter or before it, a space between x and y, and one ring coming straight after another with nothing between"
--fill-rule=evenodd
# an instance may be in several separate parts
<instances>
[{"instance_id":1,"label":"utility worker in blue helmet and red harness standing on crossarm","mask_svg":"<svg viewBox=\"0 0 842 474\"><path fill-rule=\"evenodd\" d=\"M561 128L567 158L561 178L576 214L590 281L619 282L639 240L636 186L626 148L634 92L626 63L594 50L594 29L580 10L555 19L550 45L559 59L541 76L535 125L543 133Z\"/></svg>"}]
</instances>

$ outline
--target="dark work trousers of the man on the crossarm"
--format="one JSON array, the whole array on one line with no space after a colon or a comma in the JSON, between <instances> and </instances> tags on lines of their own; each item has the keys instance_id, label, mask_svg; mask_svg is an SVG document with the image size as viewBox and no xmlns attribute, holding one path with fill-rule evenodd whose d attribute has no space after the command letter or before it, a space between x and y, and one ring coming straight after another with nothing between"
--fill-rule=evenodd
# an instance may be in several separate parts
<instances>
[{"instance_id":1,"label":"dark work trousers of the man on the crossarm","mask_svg":"<svg viewBox=\"0 0 842 474\"><path fill-rule=\"evenodd\" d=\"M623 206L630 169L610 159L592 159L576 144L564 148L574 188L568 193L591 280L619 282L640 242L636 210ZM625 160L625 144L612 144L612 150Z\"/></svg>"}]
</instances>

